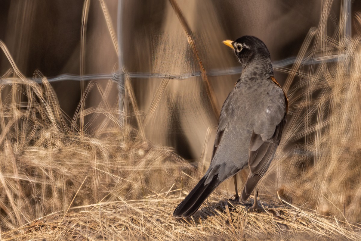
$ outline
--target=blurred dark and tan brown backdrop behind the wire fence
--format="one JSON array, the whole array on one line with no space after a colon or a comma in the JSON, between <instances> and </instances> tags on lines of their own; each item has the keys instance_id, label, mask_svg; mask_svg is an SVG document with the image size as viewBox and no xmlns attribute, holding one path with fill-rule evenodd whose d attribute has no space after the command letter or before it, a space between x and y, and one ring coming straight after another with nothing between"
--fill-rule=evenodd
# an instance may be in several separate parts
<instances>
[{"instance_id":1,"label":"blurred dark and tan brown backdrop behind the wire fence","mask_svg":"<svg viewBox=\"0 0 361 241\"><path fill-rule=\"evenodd\" d=\"M328 32L335 31L345 2L348 1L332 2ZM112 30L113 35L121 36L120 51L126 72L170 75L199 72L187 36L168 0L88 1L84 69L81 70L85 3L73 0L1 1L0 39L23 74L31 78L34 71L39 70L51 79L61 74L79 76L82 72L84 76L117 73L119 59L112 41ZM118 21L119 3L122 4L121 22ZM309 29L318 25L323 2L178 0L177 3L195 35L200 59L206 71L211 72L239 66L221 41L242 35L262 39L275 63L296 56ZM352 12L360 9L359 1L350 4ZM110 22L106 21L104 8L109 13ZM121 33L117 33L119 24ZM109 30L111 27L113 29ZM1 55L0 74L9 68L9 61ZM218 110L238 76L209 77ZM287 74L276 69L275 77L282 85ZM61 108L70 119L81 99L81 82L72 79L62 78L51 83ZM93 88L85 107L117 108L117 83L96 77L93 81L106 90L107 105L102 103L104 98L99 90ZM130 92L125 92L127 121L140 130L144 129L145 138L155 144L174 147L185 159L209 161L217 116L212 113L201 77L181 80L131 78L127 81L131 87ZM134 98L133 102L131 98ZM102 115L88 115L85 120L87 132L94 133L104 118Z\"/></svg>"}]
</instances>

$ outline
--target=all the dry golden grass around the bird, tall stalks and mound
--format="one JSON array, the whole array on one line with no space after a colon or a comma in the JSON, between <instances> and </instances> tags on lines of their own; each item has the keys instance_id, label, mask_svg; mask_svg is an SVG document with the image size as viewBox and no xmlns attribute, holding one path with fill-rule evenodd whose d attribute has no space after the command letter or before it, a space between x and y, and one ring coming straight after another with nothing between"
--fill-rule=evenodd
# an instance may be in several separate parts
<instances>
[{"instance_id":1,"label":"all the dry golden grass around the bird, tall stalks and mound","mask_svg":"<svg viewBox=\"0 0 361 241\"><path fill-rule=\"evenodd\" d=\"M217 189L193 219L175 220L200 173L146 141L138 116L140 130L122 124L106 101L109 86L90 83L69 119L46 78L25 79L0 43L13 66L0 85L1 240L360 240L361 38L342 27L328 36L327 4L295 65L278 69L289 73L290 117L269 173L281 197L262 199L260 212L224 201L231 194ZM85 108L94 89L103 102ZM126 110L138 112L129 79L125 89ZM106 116L92 137L84 134L90 115Z\"/></svg>"}]
</instances>

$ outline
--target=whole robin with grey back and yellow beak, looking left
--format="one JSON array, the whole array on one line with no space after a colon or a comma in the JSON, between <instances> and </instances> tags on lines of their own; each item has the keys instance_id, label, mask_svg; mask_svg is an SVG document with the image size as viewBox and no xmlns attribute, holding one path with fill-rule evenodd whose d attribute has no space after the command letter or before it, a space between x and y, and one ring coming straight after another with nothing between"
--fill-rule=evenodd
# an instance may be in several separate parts
<instances>
[{"instance_id":1,"label":"whole robin with grey back and yellow beak, looking left","mask_svg":"<svg viewBox=\"0 0 361 241\"><path fill-rule=\"evenodd\" d=\"M174 210L175 218L188 218L216 187L249 166L240 197L244 203L267 171L286 123L288 100L273 77L270 53L253 36L225 40L243 67L241 77L223 103L210 166L195 188ZM257 200L255 198L255 205Z\"/></svg>"}]
</instances>

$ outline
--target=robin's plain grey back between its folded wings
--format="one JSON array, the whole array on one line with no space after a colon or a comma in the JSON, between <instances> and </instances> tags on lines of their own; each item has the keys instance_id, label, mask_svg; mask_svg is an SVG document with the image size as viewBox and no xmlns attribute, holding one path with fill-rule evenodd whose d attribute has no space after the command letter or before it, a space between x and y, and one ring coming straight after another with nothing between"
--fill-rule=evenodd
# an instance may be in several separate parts
<instances>
[{"instance_id":1,"label":"robin's plain grey back between its folded wings","mask_svg":"<svg viewBox=\"0 0 361 241\"><path fill-rule=\"evenodd\" d=\"M234 168L238 172L248 165L252 131L260 118L257 113L263 111L265 102L270 98L268 92L276 87L270 79L254 81L259 82L259 85L238 81L223 104L218 126L218 130L223 129L223 132L215 141L215 146L218 146L214 150L209 169L227 165L227 169ZM218 178L225 180L232 174L233 172L228 172Z\"/></svg>"}]
</instances>

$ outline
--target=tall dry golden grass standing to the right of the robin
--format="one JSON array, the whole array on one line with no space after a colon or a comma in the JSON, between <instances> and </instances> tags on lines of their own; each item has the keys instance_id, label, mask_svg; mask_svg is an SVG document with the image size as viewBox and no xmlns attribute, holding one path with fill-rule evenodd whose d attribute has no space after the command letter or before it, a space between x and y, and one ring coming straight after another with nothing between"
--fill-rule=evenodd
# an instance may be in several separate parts
<instances>
[{"instance_id":1,"label":"tall dry golden grass standing to the right of the robin","mask_svg":"<svg viewBox=\"0 0 361 241\"><path fill-rule=\"evenodd\" d=\"M342 35L342 23L331 38L322 24L309 36L314 44L300 51L321 63L293 70L299 84L288 91L281 192L303 207L360 223L361 38Z\"/></svg>"}]
</instances>

